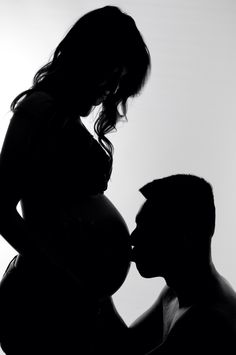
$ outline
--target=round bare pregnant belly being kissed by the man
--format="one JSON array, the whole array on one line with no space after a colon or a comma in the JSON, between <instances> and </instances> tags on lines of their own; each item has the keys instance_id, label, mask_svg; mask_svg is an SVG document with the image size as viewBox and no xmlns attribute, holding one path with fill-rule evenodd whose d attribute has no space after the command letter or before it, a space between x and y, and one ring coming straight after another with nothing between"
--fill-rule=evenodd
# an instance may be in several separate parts
<instances>
[{"instance_id":1,"label":"round bare pregnant belly being kissed by the man","mask_svg":"<svg viewBox=\"0 0 236 355\"><path fill-rule=\"evenodd\" d=\"M39 213L32 216L30 206L30 201L22 206L24 218L42 226L42 220L37 221ZM94 297L114 294L127 276L131 252L129 231L117 208L104 194L99 194L77 204L61 206L59 218L63 257L69 268ZM53 219L53 225L57 224L56 220ZM19 268L30 263L29 258L20 259ZM40 270L40 265L37 269Z\"/></svg>"}]
</instances>

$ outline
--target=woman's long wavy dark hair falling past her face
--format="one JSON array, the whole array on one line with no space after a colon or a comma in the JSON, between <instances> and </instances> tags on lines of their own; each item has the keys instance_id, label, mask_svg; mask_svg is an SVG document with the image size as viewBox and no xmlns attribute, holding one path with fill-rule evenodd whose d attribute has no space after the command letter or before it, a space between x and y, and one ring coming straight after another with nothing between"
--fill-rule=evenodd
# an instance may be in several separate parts
<instances>
[{"instance_id":1,"label":"woman's long wavy dark hair falling past her face","mask_svg":"<svg viewBox=\"0 0 236 355\"><path fill-rule=\"evenodd\" d=\"M98 97L105 81L109 93L101 101L94 130L112 162L113 146L105 135L126 118L127 100L139 94L150 68L148 48L133 18L118 7L105 6L86 13L72 26L52 59L35 74L32 87L13 100L11 110L24 97L42 90L78 116L80 94L90 92L91 85Z\"/></svg>"}]
</instances>

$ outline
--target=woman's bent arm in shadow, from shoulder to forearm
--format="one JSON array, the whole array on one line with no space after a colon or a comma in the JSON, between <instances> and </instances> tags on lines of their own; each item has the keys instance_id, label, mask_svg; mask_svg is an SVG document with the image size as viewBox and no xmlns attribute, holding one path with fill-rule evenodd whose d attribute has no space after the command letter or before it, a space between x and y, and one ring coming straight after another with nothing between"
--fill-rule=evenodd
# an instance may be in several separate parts
<instances>
[{"instance_id":1,"label":"woman's bent arm in shadow, from shoulder to forearm","mask_svg":"<svg viewBox=\"0 0 236 355\"><path fill-rule=\"evenodd\" d=\"M42 101L42 100L41 100ZM43 104L41 102L41 104ZM27 224L17 212L17 204L21 200L27 174L31 168L30 149L35 132L39 129L40 119L38 112L42 112L40 102L34 107L36 115L30 115L27 110L19 109L11 118L5 140L0 154L0 234L20 254L33 253L46 257L48 261L65 269L63 241L60 236L57 238L58 245L55 246L55 238L45 231L39 233ZM45 105L47 110L47 105ZM31 107L32 111L32 107ZM27 186L26 186L27 188ZM67 273L75 277L68 268Z\"/></svg>"}]
</instances>

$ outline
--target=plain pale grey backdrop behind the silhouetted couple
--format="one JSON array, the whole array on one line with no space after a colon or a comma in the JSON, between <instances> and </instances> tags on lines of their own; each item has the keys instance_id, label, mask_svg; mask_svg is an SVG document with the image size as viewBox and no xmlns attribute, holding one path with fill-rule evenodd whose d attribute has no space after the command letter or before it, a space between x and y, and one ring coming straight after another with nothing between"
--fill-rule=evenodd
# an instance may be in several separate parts
<instances>
[{"instance_id":1,"label":"plain pale grey backdrop behind the silhouetted couple","mask_svg":"<svg viewBox=\"0 0 236 355\"><path fill-rule=\"evenodd\" d=\"M138 192L143 184L173 173L206 178L217 207L213 259L236 288L234 0L0 0L0 143L14 96L31 85L36 70L77 18L106 4L134 17L152 56L145 89L129 101L128 123L110 135L115 162L107 196L131 231L143 202ZM89 125L93 118L87 119ZM13 255L0 237L1 275ZM127 324L163 285L162 279L142 279L132 265L114 295Z\"/></svg>"}]
</instances>

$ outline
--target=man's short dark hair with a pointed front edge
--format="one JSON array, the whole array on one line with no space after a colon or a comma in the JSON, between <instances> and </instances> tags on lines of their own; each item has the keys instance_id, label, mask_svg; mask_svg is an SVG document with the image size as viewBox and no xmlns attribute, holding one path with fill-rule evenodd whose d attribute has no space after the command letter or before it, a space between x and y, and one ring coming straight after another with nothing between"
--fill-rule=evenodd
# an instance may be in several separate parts
<instances>
[{"instance_id":1,"label":"man's short dark hair with a pointed front edge","mask_svg":"<svg viewBox=\"0 0 236 355\"><path fill-rule=\"evenodd\" d=\"M213 190L203 178L191 174L170 175L144 185L140 192L154 207L152 217L161 211L173 228L184 227L191 234L209 238L214 234Z\"/></svg>"}]
</instances>

